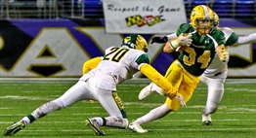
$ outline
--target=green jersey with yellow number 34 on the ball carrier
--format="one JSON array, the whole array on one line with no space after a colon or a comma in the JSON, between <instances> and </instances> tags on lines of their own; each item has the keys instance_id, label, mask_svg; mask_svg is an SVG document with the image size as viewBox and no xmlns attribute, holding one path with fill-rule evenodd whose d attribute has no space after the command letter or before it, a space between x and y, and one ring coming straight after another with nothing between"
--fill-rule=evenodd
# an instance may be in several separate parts
<instances>
[{"instance_id":1,"label":"green jersey with yellow number 34 on the ball carrier","mask_svg":"<svg viewBox=\"0 0 256 138\"><path fill-rule=\"evenodd\" d=\"M200 76L214 58L215 48L225 45L224 33L213 29L211 33L199 37L192 25L188 23L181 24L176 34L179 36L182 33L192 33L192 45L180 52L178 60L192 75Z\"/></svg>"}]
</instances>

